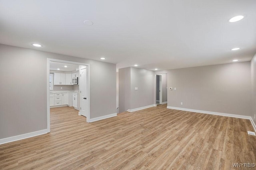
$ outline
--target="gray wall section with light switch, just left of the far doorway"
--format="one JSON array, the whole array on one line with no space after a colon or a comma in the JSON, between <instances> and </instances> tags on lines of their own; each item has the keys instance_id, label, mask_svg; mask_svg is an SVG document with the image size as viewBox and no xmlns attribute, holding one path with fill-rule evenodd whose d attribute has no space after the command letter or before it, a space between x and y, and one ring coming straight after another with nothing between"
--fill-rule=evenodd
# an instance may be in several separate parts
<instances>
[{"instance_id":1,"label":"gray wall section with light switch, just left of the far doorway","mask_svg":"<svg viewBox=\"0 0 256 170\"><path fill-rule=\"evenodd\" d=\"M131 106L130 109L155 104L154 71L131 67ZM138 90L134 90L138 87Z\"/></svg>"}]
</instances>

